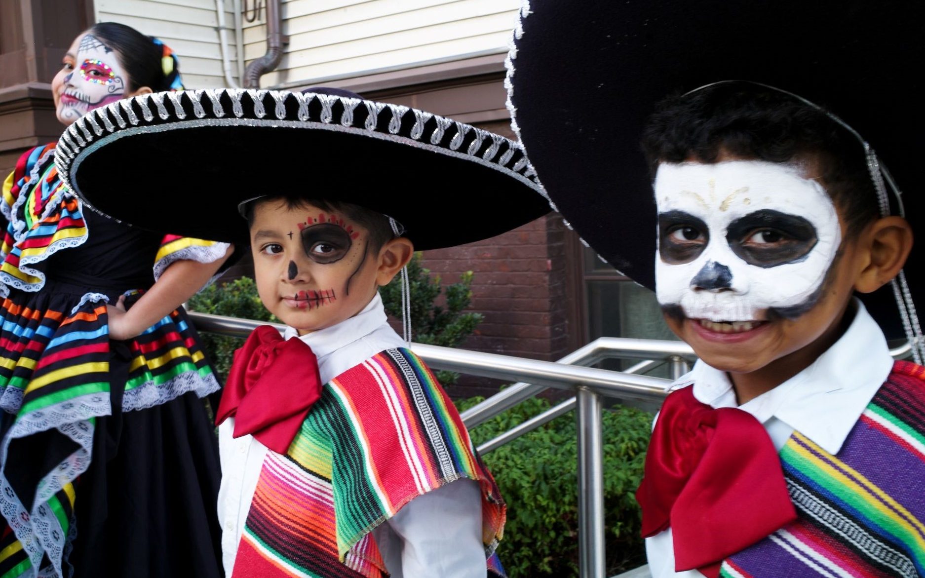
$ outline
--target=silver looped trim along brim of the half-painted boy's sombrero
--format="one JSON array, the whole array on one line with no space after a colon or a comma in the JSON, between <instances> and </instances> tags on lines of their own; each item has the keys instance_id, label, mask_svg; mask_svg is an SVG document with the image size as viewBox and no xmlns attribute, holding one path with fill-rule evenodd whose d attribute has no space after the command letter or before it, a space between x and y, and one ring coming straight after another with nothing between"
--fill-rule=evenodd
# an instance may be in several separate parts
<instances>
[{"instance_id":1,"label":"silver looped trim along brim of the half-painted boy's sombrero","mask_svg":"<svg viewBox=\"0 0 925 578\"><path fill-rule=\"evenodd\" d=\"M223 95L228 96L231 103L230 107L222 103ZM272 98L275 104L275 106L271 106L272 111L267 111L264 104L267 95ZM256 118L243 117L244 110L241 99L245 96L251 100L253 116ZM324 129L401 142L416 148L487 166L509 177L516 178L530 189L546 197L546 192L536 178L536 172L526 160L523 145L519 141L511 141L486 130L476 129L471 125L408 106L389 105L330 94L241 89L170 92L166 94L166 98L173 105L174 110L172 112L164 105L164 95L142 94L93 109L65 130L59 141L64 146L56 148L55 163L58 167L60 178L68 189L74 191L81 198L85 206L97 213L101 213L93 206L93 203L89 203L82 197L80 191L72 186L70 177L87 154L92 153L105 143L144 132L163 132L185 127L240 125ZM181 100L184 98L189 101L195 118L187 119L187 115L183 112ZM297 112L294 115L287 112L286 102L290 98L294 98L294 104L298 105ZM206 99L212 105L213 113L211 117L206 118L203 99ZM322 113L319 119L310 120L309 105L314 101L321 105ZM337 102L343 105L339 113L334 109L334 104ZM364 119L363 126L357 127L354 126L353 113L356 107L361 104L365 105L368 114ZM137 105L142 111L142 118L139 118L135 113L133 105ZM159 120L154 120L155 115L151 110L152 105L157 110L156 117ZM228 108L230 110L227 110ZM377 129L380 115L387 110L390 115L387 129ZM167 118L162 116L162 113L165 112L168 115ZM405 135L401 133L401 126L404 124L403 120L407 115L413 116L414 123L410 129L410 134ZM128 117L128 122L126 117ZM178 118L179 120L174 120L168 124L161 122L161 120L167 120L170 117ZM427 126L431 118L435 121L433 123L435 126L432 129ZM115 119L118 128L112 123L113 119ZM92 130L87 128L88 122L93 128ZM448 146L439 145L439 142L443 141L446 131L451 127L454 127L457 133L450 139ZM475 133L475 140L463 151L463 142L473 132ZM486 151L478 154L487 140L490 140L491 143ZM507 149L500 153L505 144ZM521 157L514 162L513 166L508 166L517 153L520 153ZM546 198L548 199L548 197Z\"/></svg>"}]
</instances>

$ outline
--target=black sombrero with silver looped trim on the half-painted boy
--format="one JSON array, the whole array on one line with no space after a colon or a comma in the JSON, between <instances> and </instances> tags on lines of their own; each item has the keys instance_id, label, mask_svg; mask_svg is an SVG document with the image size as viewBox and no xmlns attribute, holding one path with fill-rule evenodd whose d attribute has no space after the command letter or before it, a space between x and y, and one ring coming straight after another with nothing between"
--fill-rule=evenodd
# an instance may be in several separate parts
<instances>
[{"instance_id":1,"label":"black sombrero with silver looped trim on the half-painted boy","mask_svg":"<svg viewBox=\"0 0 925 578\"><path fill-rule=\"evenodd\" d=\"M344 94L158 92L97 108L58 141L80 199L132 226L246 244L261 195L360 204L416 249L498 235L549 212L517 142Z\"/></svg>"}]
</instances>

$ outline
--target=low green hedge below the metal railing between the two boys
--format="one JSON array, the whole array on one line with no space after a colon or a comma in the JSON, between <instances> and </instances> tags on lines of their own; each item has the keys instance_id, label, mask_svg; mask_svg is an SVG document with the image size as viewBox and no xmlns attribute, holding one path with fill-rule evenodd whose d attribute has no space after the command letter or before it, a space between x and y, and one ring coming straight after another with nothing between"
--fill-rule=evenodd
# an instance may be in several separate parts
<instances>
[{"instance_id":1,"label":"low green hedge below the metal railing between the two boys","mask_svg":"<svg viewBox=\"0 0 925 578\"><path fill-rule=\"evenodd\" d=\"M460 410L481 398L460 400ZM476 446L550 407L526 400L470 434ZM635 488L642 479L652 415L617 407L602 414L607 575L645 563ZM578 575L577 437L574 414L484 456L508 504L499 557L511 578Z\"/></svg>"}]
</instances>

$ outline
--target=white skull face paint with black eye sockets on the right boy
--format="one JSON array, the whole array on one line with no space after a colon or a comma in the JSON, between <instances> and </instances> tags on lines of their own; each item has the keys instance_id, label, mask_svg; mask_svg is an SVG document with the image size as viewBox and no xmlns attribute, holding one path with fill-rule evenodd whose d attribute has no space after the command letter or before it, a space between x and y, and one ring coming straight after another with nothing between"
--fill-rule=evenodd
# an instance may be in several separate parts
<instances>
[{"instance_id":1,"label":"white skull face paint with black eye sockets on the right boy","mask_svg":"<svg viewBox=\"0 0 925 578\"><path fill-rule=\"evenodd\" d=\"M828 193L796 166L726 161L659 166L656 295L709 321L807 312L841 228Z\"/></svg>"}]
</instances>

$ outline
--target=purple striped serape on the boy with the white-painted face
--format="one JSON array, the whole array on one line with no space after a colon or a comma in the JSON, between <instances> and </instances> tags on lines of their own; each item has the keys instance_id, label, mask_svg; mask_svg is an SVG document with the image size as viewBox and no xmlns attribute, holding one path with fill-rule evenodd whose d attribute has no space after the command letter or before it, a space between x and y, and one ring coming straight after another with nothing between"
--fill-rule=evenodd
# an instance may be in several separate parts
<instances>
[{"instance_id":1,"label":"purple striped serape on the boy with the white-painted face","mask_svg":"<svg viewBox=\"0 0 925 578\"><path fill-rule=\"evenodd\" d=\"M796 432L780 455L798 518L721 576L925 576L925 368L896 362L837 455Z\"/></svg>"}]
</instances>

